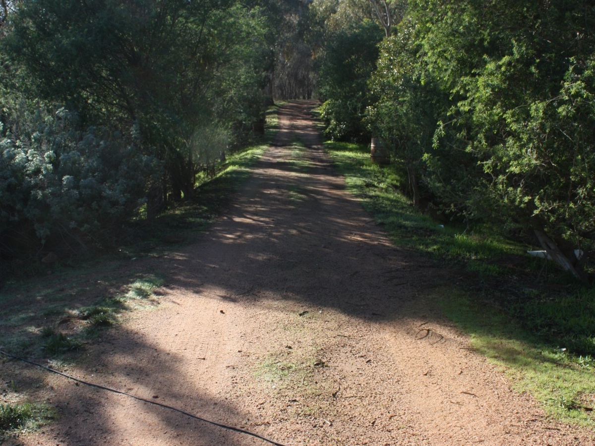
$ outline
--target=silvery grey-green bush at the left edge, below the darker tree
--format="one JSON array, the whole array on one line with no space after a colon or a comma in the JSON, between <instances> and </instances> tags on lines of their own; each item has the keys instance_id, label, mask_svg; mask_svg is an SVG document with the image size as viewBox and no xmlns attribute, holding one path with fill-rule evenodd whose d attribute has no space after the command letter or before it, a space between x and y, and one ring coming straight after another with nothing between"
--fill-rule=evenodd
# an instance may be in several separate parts
<instances>
[{"instance_id":1,"label":"silvery grey-green bush at the left edge, below the darker tree","mask_svg":"<svg viewBox=\"0 0 595 446\"><path fill-rule=\"evenodd\" d=\"M3 255L17 255L18 238L28 229L35 230L42 243L59 237L105 243L117 222L143 203L146 180L158 164L140 153L133 131L126 136L107 128L81 130L73 112L24 101L5 102L4 114Z\"/></svg>"}]
</instances>

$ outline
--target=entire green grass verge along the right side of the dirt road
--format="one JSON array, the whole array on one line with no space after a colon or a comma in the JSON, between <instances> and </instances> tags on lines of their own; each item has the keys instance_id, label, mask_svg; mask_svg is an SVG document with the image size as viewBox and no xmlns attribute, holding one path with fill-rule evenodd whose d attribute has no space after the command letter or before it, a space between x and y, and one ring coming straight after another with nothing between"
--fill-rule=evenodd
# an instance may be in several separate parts
<instances>
[{"instance_id":1,"label":"entire green grass verge along the right side of the dirt road","mask_svg":"<svg viewBox=\"0 0 595 446\"><path fill-rule=\"evenodd\" d=\"M490 228L415 211L400 193L406 179L398 166L372 164L367 146L325 147L393 243L465 271L464 288L441 290L436 300L477 351L503 366L516 390L530 392L550 415L595 427L595 291Z\"/></svg>"}]
</instances>

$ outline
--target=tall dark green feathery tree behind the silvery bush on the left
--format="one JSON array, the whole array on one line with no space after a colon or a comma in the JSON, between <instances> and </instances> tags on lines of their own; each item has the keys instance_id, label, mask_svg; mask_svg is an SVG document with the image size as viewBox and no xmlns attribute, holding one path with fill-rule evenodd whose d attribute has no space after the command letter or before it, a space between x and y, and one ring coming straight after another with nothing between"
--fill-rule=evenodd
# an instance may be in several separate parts
<instances>
[{"instance_id":1,"label":"tall dark green feathery tree behind the silvery bush on the left","mask_svg":"<svg viewBox=\"0 0 595 446\"><path fill-rule=\"evenodd\" d=\"M261 8L234 1L41 0L21 2L3 45L31 95L67 104L85 125L135 125L179 198L192 196L201 167L199 131L223 127L242 140L262 118L270 34Z\"/></svg>"}]
</instances>

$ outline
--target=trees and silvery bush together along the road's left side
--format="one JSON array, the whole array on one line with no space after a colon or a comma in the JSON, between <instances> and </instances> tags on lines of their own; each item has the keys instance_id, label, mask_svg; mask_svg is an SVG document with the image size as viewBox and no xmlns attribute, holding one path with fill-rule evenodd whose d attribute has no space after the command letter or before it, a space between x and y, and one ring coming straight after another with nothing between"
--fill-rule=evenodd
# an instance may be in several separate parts
<instances>
[{"instance_id":1,"label":"trees and silvery bush together along the road's left side","mask_svg":"<svg viewBox=\"0 0 595 446\"><path fill-rule=\"evenodd\" d=\"M104 247L192 199L264 120L261 3L18 2L0 39L0 256Z\"/></svg>"}]
</instances>

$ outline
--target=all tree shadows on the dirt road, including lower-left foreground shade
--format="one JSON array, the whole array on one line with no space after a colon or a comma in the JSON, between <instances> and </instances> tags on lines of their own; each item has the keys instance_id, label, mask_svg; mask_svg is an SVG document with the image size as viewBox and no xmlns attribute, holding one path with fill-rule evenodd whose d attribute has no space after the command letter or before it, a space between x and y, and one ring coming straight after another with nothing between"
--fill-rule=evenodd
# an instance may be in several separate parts
<instances>
[{"instance_id":1,"label":"all tree shadows on the dirt road, including lower-left foreground shade","mask_svg":"<svg viewBox=\"0 0 595 446\"><path fill-rule=\"evenodd\" d=\"M412 303L419 294L446 281L446 275L430 260L392 246L358 200L346 193L343 178L320 149L309 106L281 114L274 146L253 169L226 215L200 240L158 258L139 259L133 266L121 265L118 274L130 278L158 272L165 280L165 299L176 292L208 294L230 305L265 309L268 300L285 300L288 304L281 311L328 308L372 321L408 317L412 307L417 311ZM292 121L291 127L284 127L285 119ZM307 148L290 146L295 139ZM299 163L287 162L291 156ZM187 356L156 348L146 335L119 327L101 335L87 354L76 366L65 362L66 371L149 400L183 403L181 410L214 421L255 423L250 410L208 394L192 373L182 372L187 370ZM11 368L37 380L38 397L48 395L48 403L58 408L57 422L40 434L56 443L138 444L135 438L150 438L151 444L262 444L122 395L64 383L20 366ZM127 429L132 431L124 438Z\"/></svg>"}]
</instances>

